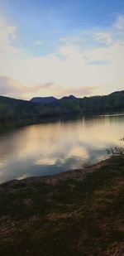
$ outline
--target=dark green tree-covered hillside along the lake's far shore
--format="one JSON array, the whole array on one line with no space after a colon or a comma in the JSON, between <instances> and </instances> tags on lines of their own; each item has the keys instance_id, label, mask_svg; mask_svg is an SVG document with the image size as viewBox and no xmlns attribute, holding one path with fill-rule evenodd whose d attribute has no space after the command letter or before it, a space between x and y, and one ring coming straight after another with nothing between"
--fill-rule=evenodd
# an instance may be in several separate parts
<instances>
[{"instance_id":1,"label":"dark green tree-covered hillside along the lake's far shore","mask_svg":"<svg viewBox=\"0 0 124 256\"><path fill-rule=\"evenodd\" d=\"M37 104L32 101L10 99L0 96L0 121L36 120L58 117L66 114L101 114L124 110L124 91L107 96L74 97L56 100L51 104Z\"/></svg>"}]
</instances>

